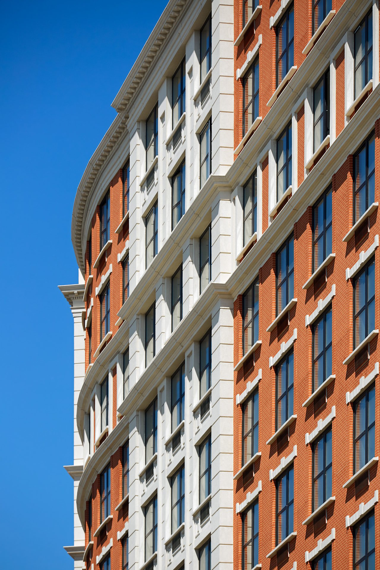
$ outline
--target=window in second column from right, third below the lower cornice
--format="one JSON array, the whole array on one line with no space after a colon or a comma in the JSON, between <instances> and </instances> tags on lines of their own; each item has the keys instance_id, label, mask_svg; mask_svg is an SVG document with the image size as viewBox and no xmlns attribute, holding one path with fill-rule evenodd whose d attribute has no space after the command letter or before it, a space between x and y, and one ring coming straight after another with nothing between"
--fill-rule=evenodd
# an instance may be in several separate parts
<instances>
[{"instance_id":1,"label":"window in second column from right, third below the lower cornice","mask_svg":"<svg viewBox=\"0 0 380 570\"><path fill-rule=\"evenodd\" d=\"M313 443L313 511L332 496L332 430Z\"/></svg>"}]
</instances>

